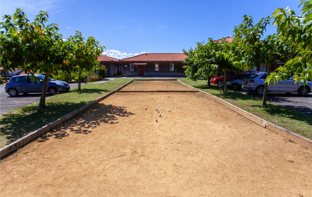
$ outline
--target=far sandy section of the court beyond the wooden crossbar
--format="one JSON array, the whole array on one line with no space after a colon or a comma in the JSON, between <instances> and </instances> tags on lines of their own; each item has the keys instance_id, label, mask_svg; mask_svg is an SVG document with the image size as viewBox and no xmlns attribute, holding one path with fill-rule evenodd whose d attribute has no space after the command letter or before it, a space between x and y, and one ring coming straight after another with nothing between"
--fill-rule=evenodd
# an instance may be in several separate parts
<instances>
[{"instance_id":1,"label":"far sandy section of the court beyond the wooden crossbar","mask_svg":"<svg viewBox=\"0 0 312 197\"><path fill-rule=\"evenodd\" d=\"M182 85L177 80L155 80L155 81L139 81L134 80L121 90L129 91L155 91L155 90L192 90L191 88ZM195 89L193 89L195 90Z\"/></svg>"}]
</instances>

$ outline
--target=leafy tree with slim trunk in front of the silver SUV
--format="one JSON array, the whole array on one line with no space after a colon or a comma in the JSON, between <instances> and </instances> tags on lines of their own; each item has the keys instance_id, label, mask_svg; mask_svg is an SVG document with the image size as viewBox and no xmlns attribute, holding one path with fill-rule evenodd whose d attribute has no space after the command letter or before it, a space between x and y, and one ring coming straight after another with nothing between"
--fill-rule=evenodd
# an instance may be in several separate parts
<instances>
[{"instance_id":1,"label":"leafy tree with slim trunk in front of the silver SUV","mask_svg":"<svg viewBox=\"0 0 312 197\"><path fill-rule=\"evenodd\" d=\"M267 77L270 75L271 66L276 61L289 58L289 49L285 43L276 39L277 35L269 35L261 39L266 25L270 24L270 16L262 18L257 24L253 17L245 15L240 25L234 28L234 40L226 57L240 70L253 69L256 65L267 65ZM270 81L265 84L262 98L262 107L266 108L266 94Z\"/></svg>"}]
</instances>

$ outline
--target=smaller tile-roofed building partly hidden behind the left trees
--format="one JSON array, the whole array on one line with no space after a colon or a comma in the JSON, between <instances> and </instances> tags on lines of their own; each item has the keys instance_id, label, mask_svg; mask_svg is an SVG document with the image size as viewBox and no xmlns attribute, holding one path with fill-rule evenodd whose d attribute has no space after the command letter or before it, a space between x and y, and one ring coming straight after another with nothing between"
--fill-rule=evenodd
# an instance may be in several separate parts
<instances>
[{"instance_id":1,"label":"smaller tile-roofed building partly hidden behind the left trees","mask_svg":"<svg viewBox=\"0 0 312 197\"><path fill-rule=\"evenodd\" d=\"M104 65L107 69L106 76L112 77L115 75L122 74L122 64L119 62L119 59L108 57L106 55L100 55L98 58L100 65Z\"/></svg>"}]
</instances>

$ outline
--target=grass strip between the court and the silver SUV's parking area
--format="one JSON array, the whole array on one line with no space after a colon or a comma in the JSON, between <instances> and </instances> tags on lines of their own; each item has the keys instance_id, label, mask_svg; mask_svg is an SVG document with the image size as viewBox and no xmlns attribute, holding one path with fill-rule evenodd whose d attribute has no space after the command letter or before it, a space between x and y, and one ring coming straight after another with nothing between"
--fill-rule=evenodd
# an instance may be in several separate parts
<instances>
[{"instance_id":1,"label":"grass strip between the court and the silver SUV's parking area","mask_svg":"<svg viewBox=\"0 0 312 197\"><path fill-rule=\"evenodd\" d=\"M192 81L180 79L183 83L193 86L220 99L227 101L251 114L254 114L275 125L293 131L312 140L312 116L267 102L267 108L261 108L262 99L228 90L224 94L218 85L207 86L207 80ZM218 113L218 112L216 112Z\"/></svg>"}]
</instances>

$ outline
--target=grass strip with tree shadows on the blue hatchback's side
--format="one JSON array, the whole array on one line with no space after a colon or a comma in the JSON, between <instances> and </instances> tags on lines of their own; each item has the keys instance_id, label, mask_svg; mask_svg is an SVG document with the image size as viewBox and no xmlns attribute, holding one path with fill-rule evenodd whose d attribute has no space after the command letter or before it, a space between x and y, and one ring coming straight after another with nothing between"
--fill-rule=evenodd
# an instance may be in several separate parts
<instances>
[{"instance_id":1,"label":"grass strip with tree shadows on the blue hatchback's side","mask_svg":"<svg viewBox=\"0 0 312 197\"><path fill-rule=\"evenodd\" d=\"M85 84L81 90L57 94L46 99L46 107L38 109L39 103L17 108L1 116L1 148L35 131L46 124L84 106L87 103L119 88L132 79L116 79L105 83Z\"/></svg>"}]
</instances>

